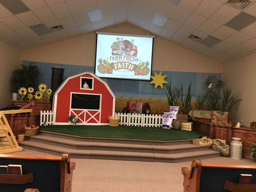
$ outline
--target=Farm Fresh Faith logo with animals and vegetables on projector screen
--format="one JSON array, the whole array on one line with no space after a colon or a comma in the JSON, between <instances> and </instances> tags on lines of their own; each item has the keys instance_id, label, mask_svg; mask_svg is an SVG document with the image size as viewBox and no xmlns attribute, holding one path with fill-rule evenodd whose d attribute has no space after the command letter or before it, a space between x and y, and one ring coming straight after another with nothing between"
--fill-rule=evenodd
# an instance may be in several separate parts
<instances>
[{"instance_id":1,"label":"Farm Fresh Faith logo with animals and vegetables on projector screen","mask_svg":"<svg viewBox=\"0 0 256 192\"><path fill-rule=\"evenodd\" d=\"M97 71L103 74L113 74L114 72L126 75L145 76L150 73L148 61L143 62L138 57L137 46L134 39L131 41L116 37L111 45L111 55L107 59L98 59ZM132 74L130 74L132 73Z\"/></svg>"}]
</instances>

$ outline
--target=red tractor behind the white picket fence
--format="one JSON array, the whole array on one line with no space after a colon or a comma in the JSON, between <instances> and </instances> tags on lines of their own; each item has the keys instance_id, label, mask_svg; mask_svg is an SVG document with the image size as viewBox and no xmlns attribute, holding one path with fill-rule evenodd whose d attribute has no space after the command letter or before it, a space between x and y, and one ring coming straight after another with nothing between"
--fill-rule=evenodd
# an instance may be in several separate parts
<instances>
[{"instance_id":1,"label":"red tractor behind the white picket fence","mask_svg":"<svg viewBox=\"0 0 256 192\"><path fill-rule=\"evenodd\" d=\"M150 105L144 102L127 101L126 108L123 108L122 113L150 114Z\"/></svg>"}]
</instances>

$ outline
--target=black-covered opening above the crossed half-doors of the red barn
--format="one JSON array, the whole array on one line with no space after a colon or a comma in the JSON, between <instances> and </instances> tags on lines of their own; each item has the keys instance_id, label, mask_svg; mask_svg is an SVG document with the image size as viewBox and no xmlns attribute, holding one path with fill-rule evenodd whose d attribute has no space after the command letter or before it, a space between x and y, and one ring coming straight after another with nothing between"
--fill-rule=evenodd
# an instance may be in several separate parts
<instances>
[{"instance_id":1,"label":"black-covered opening above the crossed half-doors of the red barn","mask_svg":"<svg viewBox=\"0 0 256 192\"><path fill-rule=\"evenodd\" d=\"M72 93L71 109L96 109L99 110L101 95Z\"/></svg>"}]
</instances>

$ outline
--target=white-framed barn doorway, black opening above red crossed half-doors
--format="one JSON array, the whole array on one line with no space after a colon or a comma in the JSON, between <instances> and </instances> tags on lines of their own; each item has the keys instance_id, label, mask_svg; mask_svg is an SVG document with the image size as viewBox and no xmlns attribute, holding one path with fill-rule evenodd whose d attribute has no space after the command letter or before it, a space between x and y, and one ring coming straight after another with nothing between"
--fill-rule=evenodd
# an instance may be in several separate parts
<instances>
[{"instance_id":1,"label":"white-framed barn doorway, black opening above red crossed half-doors","mask_svg":"<svg viewBox=\"0 0 256 192\"><path fill-rule=\"evenodd\" d=\"M80 125L101 123L101 94L71 93L70 115L78 115Z\"/></svg>"}]
</instances>

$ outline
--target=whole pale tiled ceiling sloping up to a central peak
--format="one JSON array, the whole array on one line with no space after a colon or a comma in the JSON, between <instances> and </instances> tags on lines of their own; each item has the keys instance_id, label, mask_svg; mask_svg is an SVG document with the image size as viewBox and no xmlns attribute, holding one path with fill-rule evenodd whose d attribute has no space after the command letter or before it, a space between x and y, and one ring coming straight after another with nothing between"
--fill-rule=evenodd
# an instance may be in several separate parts
<instances>
[{"instance_id":1,"label":"whole pale tiled ceiling sloping up to a central peak","mask_svg":"<svg viewBox=\"0 0 256 192\"><path fill-rule=\"evenodd\" d=\"M225 25L242 12L256 16L256 0L243 11L226 5L227 0L181 0L178 5L170 2L178 0L21 1L30 11L13 14L0 3L0 39L21 50L127 22L222 63L256 53L256 22L240 31ZM103 19L90 22L87 12L95 9L101 9ZM164 27L152 23L156 13L168 17ZM38 35L29 28L41 23L64 30ZM208 47L189 39L191 34L220 42Z\"/></svg>"}]
</instances>

